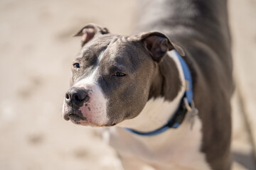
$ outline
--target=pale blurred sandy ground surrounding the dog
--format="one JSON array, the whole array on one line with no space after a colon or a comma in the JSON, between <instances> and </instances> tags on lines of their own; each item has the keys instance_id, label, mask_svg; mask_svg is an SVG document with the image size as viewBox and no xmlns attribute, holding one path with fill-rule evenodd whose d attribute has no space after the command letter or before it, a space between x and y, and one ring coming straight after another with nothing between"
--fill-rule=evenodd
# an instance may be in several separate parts
<instances>
[{"instance_id":1,"label":"pale blurred sandy ground surrounding the dog","mask_svg":"<svg viewBox=\"0 0 256 170\"><path fill-rule=\"evenodd\" d=\"M91 22L128 35L135 2L0 1L0 169L114 169L114 151L97 130L73 125L61 115L70 64L80 49L79 38L70 35ZM255 131L245 121L245 115L251 124L256 121L250 114L256 101L255 7L255 0L230 1L240 87L233 100L237 169L256 169L249 133Z\"/></svg>"}]
</instances>

